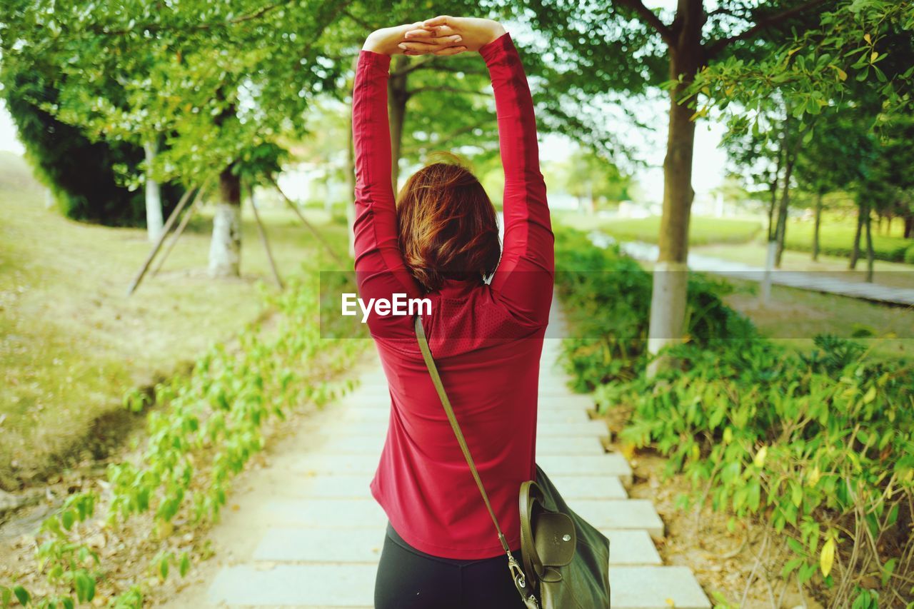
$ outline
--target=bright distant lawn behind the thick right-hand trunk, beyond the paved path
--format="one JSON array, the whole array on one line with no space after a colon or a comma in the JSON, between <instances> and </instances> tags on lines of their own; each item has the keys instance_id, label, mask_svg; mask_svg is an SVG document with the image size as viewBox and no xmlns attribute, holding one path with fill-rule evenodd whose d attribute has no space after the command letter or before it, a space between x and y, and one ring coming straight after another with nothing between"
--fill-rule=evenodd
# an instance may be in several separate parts
<instances>
[{"instance_id":1,"label":"bright distant lawn behind the thick right-hand trunk, beyond the paved path","mask_svg":"<svg viewBox=\"0 0 914 609\"><path fill-rule=\"evenodd\" d=\"M656 243L660 234L660 218L615 219L590 216L576 211L558 211L553 215L568 226L578 230L599 229L621 241ZM756 219L728 219L693 217L689 223L689 242L745 243L761 232L761 222Z\"/></svg>"}]
</instances>

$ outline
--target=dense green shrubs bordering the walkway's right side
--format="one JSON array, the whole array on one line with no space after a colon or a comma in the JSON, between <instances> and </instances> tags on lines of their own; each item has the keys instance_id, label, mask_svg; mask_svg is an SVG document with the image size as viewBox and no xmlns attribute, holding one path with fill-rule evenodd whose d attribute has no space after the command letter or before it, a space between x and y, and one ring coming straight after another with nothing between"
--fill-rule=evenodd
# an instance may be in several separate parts
<instances>
[{"instance_id":1,"label":"dense green shrubs bordering the walkway's right side","mask_svg":"<svg viewBox=\"0 0 914 609\"><path fill-rule=\"evenodd\" d=\"M579 236L559 237L562 268L626 264ZM705 291L715 288L697 293ZM877 606L880 594L893 591L904 598L909 583L893 573L912 551L904 542L914 499L909 362L826 336L808 352L788 350L757 336L748 322L732 325L728 307L718 305L708 310L708 323L726 331L671 347L678 365L647 378L643 354L613 348L616 337L590 339L602 349L580 347L579 337L594 328L617 331L603 325L617 317L620 326L646 324L632 311L637 297L620 298L605 280L566 282L558 294L577 337L565 344L577 388L596 389L600 411L628 413L622 442L652 446L668 457L668 473L693 482L682 507L709 500L718 511L766 525L791 550L781 577L824 585L837 595L834 604ZM879 591L859 584L872 570Z\"/></svg>"}]
</instances>

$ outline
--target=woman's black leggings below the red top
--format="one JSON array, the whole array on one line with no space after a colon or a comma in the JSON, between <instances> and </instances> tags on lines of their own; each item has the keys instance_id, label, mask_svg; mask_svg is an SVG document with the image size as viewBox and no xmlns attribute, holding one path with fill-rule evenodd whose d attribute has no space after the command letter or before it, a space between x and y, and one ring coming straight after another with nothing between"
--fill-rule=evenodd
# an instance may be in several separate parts
<instances>
[{"instance_id":1,"label":"woman's black leggings below the red top","mask_svg":"<svg viewBox=\"0 0 914 609\"><path fill-rule=\"evenodd\" d=\"M520 550L511 550L520 558ZM431 556L388 522L375 580L375 609L525 609L505 554L480 560Z\"/></svg>"}]
</instances>

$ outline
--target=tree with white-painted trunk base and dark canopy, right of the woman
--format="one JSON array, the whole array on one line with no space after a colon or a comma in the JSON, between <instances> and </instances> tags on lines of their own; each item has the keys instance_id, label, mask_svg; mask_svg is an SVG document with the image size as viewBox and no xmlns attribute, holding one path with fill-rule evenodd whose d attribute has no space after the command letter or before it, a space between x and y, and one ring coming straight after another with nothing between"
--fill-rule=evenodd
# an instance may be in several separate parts
<instances>
[{"instance_id":1,"label":"tree with white-painted trunk base and dark canopy, right of the woman","mask_svg":"<svg viewBox=\"0 0 914 609\"><path fill-rule=\"evenodd\" d=\"M669 131L664 160L664 213L654 272L649 348L657 353L683 336L685 260L694 192L695 119L705 114L686 99L700 70L728 58L758 61L760 40L783 40L788 27L812 27L824 0L763 5L721 0L678 0L675 12L654 11L642 0L607 3L529 2L533 26L547 34L579 91L643 93L668 82ZM672 18L669 18L672 17ZM769 47L770 48L770 47ZM665 69L665 74L664 74ZM706 95L715 93L707 88ZM725 96L718 94L718 99ZM657 361L654 366L661 362Z\"/></svg>"}]
</instances>

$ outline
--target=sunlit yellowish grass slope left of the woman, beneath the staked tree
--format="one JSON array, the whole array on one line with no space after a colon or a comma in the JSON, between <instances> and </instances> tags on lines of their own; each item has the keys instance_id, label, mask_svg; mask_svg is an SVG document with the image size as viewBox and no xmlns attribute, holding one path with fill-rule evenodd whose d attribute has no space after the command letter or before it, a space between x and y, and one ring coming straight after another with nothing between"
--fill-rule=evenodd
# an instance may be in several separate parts
<instances>
[{"instance_id":1,"label":"sunlit yellowish grass slope left of the woman, beneath the staked tree","mask_svg":"<svg viewBox=\"0 0 914 609\"><path fill-rule=\"evenodd\" d=\"M162 272L127 286L150 244L145 230L62 218L14 155L0 158L0 488L103 456L121 441L122 397L186 369L264 312L255 283L272 285L246 208L238 279L207 277L204 209ZM280 272L335 268L290 211L265 209ZM345 252L345 226L309 218Z\"/></svg>"}]
</instances>

